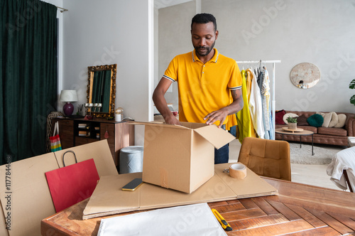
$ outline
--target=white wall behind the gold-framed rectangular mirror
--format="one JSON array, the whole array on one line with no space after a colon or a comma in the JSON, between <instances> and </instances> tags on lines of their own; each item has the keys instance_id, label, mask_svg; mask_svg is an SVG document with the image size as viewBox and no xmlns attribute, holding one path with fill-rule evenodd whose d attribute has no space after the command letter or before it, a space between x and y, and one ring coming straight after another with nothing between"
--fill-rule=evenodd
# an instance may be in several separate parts
<instances>
[{"instance_id":1,"label":"white wall behind the gold-framed rectangular mirror","mask_svg":"<svg viewBox=\"0 0 355 236\"><path fill-rule=\"evenodd\" d=\"M117 64L116 107L124 117L153 119L153 3L151 0L63 0L63 89L77 90L86 102L87 67ZM136 127L136 144L142 142Z\"/></svg>"}]
</instances>

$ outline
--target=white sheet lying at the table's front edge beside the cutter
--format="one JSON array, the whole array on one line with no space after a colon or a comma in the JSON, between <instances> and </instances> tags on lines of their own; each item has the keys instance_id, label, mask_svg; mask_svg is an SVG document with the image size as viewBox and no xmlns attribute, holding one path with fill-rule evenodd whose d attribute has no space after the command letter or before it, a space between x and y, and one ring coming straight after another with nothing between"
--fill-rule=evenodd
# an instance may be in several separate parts
<instances>
[{"instance_id":1,"label":"white sheet lying at the table's front edge beside the cutter","mask_svg":"<svg viewBox=\"0 0 355 236\"><path fill-rule=\"evenodd\" d=\"M226 235L207 203L183 205L101 220L98 236Z\"/></svg>"}]
</instances>

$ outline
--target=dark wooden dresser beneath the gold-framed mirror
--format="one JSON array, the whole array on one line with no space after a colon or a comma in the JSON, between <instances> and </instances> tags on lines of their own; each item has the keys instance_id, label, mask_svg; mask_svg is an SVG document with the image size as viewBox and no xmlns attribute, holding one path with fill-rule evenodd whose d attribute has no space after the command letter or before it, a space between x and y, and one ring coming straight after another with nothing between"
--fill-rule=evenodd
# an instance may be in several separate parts
<instances>
[{"instance_id":1,"label":"dark wooden dresser beneath the gold-framed mirror","mask_svg":"<svg viewBox=\"0 0 355 236\"><path fill-rule=\"evenodd\" d=\"M53 127L55 122L59 122L62 149L107 139L116 166L119 165L119 151L134 145L134 125L126 122L104 118L87 120L58 117L53 118Z\"/></svg>"}]
</instances>

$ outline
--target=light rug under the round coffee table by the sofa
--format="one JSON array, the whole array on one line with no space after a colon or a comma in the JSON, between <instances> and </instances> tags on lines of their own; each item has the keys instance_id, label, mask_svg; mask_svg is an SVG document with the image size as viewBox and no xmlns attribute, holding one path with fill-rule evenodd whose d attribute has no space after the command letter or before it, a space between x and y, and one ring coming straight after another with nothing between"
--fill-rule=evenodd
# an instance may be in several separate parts
<instances>
[{"instance_id":1,"label":"light rug under the round coffee table by the sofa","mask_svg":"<svg viewBox=\"0 0 355 236\"><path fill-rule=\"evenodd\" d=\"M312 145L290 143L290 157L291 163L304 164L304 165L325 165L332 162L334 154L342 150L341 148L332 147L332 148L322 148L319 146L313 147L313 152L315 153L312 156Z\"/></svg>"}]
</instances>

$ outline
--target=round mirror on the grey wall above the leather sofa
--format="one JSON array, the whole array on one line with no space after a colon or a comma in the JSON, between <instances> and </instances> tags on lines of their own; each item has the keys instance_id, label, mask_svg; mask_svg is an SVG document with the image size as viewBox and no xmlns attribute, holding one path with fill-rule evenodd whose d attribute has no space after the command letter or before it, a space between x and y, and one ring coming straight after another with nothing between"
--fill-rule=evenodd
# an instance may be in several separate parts
<instances>
[{"instance_id":1,"label":"round mirror on the grey wall above the leather sofa","mask_svg":"<svg viewBox=\"0 0 355 236\"><path fill-rule=\"evenodd\" d=\"M291 70L290 80L296 87L307 89L320 81L320 69L312 63L300 63Z\"/></svg>"}]
</instances>

